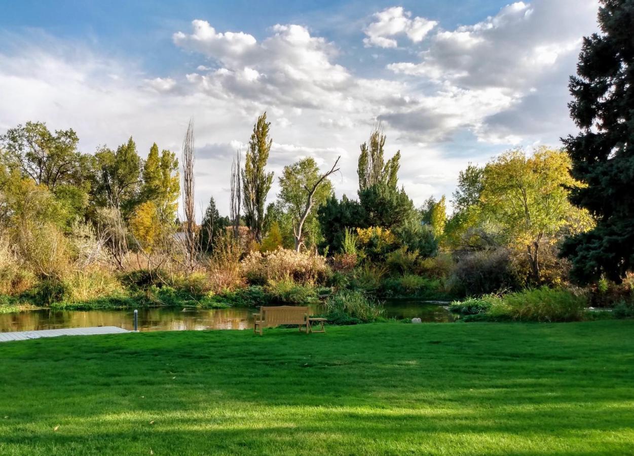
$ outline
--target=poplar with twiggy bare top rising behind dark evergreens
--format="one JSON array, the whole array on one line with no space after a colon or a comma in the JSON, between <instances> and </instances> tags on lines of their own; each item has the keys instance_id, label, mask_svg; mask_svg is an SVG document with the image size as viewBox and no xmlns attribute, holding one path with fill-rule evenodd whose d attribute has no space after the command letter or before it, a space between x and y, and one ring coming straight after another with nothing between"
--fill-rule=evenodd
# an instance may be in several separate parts
<instances>
[{"instance_id":1,"label":"poplar with twiggy bare top rising behind dark evergreens","mask_svg":"<svg viewBox=\"0 0 634 456\"><path fill-rule=\"evenodd\" d=\"M380 126L377 126L370 134L370 140L361 145L357 167L359 192L377 184L385 184L396 188L401 152L397 151L394 157L385 162L384 147L386 138Z\"/></svg>"}]
</instances>

